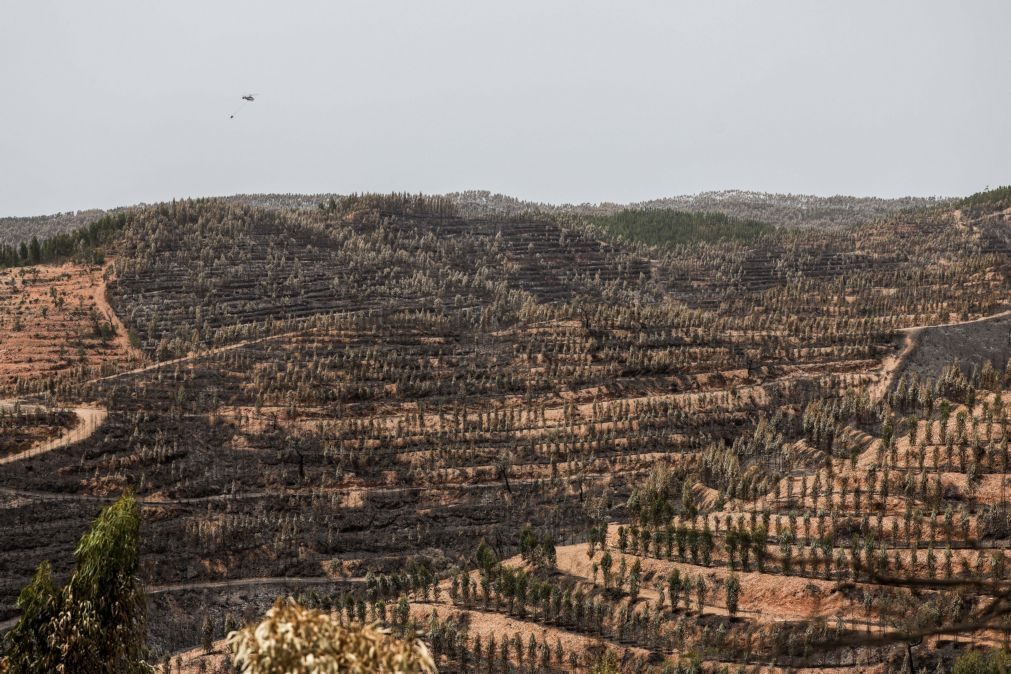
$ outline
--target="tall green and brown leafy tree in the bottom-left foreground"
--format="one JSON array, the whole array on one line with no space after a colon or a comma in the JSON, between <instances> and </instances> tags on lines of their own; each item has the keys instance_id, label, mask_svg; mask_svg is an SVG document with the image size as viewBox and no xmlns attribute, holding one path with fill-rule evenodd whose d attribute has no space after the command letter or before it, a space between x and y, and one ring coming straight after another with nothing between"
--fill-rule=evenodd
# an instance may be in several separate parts
<instances>
[{"instance_id":1,"label":"tall green and brown leafy tree in the bottom-left foreground","mask_svg":"<svg viewBox=\"0 0 1011 674\"><path fill-rule=\"evenodd\" d=\"M147 604L136 572L141 517L131 494L104 508L57 589L48 562L21 591L21 617L6 637L3 674L153 671L144 662Z\"/></svg>"}]
</instances>

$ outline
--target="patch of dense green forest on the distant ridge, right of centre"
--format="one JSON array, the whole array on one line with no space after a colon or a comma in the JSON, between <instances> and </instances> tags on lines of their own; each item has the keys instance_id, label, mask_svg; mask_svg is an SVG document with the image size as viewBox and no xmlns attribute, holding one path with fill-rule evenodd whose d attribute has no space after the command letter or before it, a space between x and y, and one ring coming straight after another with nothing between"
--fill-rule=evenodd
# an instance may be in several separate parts
<instances>
[{"instance_id":1,"label":"patch of dense green forest on the distant ridge, right of centre","mask_svg":"<svg viewBox=\"0 0 1011 674\"><path fill-rule=\"evenodd\" d=\"M664 208L626 209L612 215L592 217L590 221L616 236L661 247L725 239L749 240L775 231L774 226L760 220Z\"/></svg>"}]
</instances>

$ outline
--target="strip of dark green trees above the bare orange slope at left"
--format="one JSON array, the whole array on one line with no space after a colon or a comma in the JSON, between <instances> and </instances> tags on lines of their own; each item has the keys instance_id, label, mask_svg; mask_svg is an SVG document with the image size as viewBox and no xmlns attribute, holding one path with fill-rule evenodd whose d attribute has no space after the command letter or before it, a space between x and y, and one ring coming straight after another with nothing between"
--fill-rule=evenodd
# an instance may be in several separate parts
<instances>
[{"instance_id":1,"label":"strip of dark green trees above the bare orange slope at left","mask_svg":"<svg viewBox=\"0 0 1011 674\"><path fill-rule=\"evenodd\" d=\"M75 231L60 233L39 242L32 237L29 245L0 246L0 269L26 265L53 264L73 260L101 264L105 247L115 240L126 226L126 214L106 215Z\"/></svg>"}]
</instances>

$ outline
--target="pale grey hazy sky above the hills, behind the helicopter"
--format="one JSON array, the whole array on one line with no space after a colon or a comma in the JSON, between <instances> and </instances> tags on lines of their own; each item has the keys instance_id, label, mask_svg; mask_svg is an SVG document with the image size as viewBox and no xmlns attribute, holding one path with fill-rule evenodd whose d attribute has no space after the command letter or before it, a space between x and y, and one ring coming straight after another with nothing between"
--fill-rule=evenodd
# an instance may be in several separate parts
<instances>
[{"instance_id":1,"label":"pale grey hazy sky above the hills, behind the helicopter","mask_svg":"<svg viewBox=\"0 0 1011 674\"><path fill-rule=\"evenodd\" d=\"M964 194L1011 183L1009 26L1009 0L3 0L0 215Z\"/></svg>"}]
</instances>

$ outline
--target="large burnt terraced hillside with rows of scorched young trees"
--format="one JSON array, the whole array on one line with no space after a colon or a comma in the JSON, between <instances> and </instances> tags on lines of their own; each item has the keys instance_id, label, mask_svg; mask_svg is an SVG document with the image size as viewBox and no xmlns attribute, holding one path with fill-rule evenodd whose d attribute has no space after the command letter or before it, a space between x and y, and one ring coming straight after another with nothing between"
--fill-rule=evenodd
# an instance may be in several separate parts
<instances>
[{"instance_id":1,"label":"large burnt terraced hillside with rows of scorched young trees","mask_svg":"<svg viewBox=\"0 0 1011 674\"><path fill-rule=\"evenodd\" d=\"M0 620L129 488L150 645L194 672L285 593L450 672L888 671L914 638L932 671L1001 641L1007 363L928 380L906 344L1011 309L1004 201L700 196L676 208L728 215L655 240L475 194L134 207L6 272L52 322L44 367L0 369Z\"/></svg>"}]
</instances>

